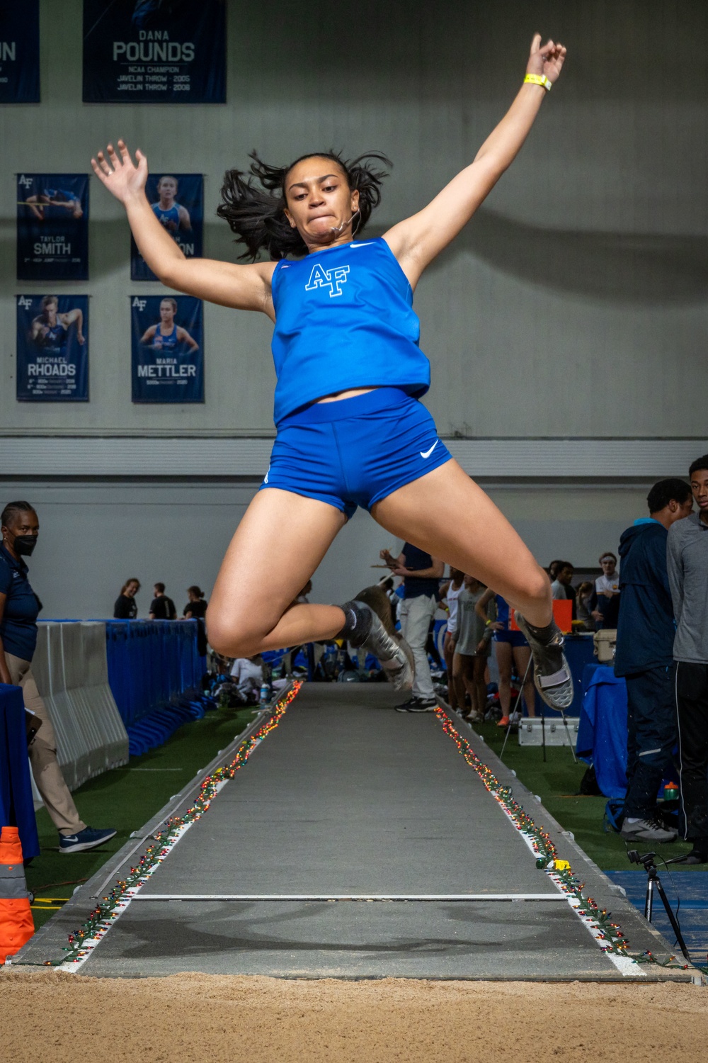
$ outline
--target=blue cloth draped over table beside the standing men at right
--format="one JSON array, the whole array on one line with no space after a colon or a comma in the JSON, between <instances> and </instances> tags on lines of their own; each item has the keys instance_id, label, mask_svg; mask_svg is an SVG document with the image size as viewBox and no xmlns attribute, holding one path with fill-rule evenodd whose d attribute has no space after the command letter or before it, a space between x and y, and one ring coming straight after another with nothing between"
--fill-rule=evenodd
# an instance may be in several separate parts
<instances>
[{"instance_id":1,"label":"blue cloth draped over table beside the standing men at right","mask_svg":"<svg viewBox=\"0 0 708 1063\"><path fill-rule=\"evenodd\" d=\"M605 797L624 797L627 779L627 688L611 668L590 677L577 725L577 756L594 765Z\"/></svg>"}]
</instances>

